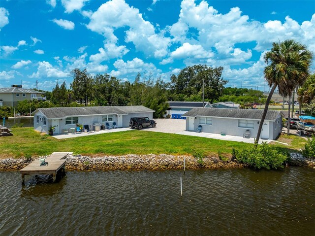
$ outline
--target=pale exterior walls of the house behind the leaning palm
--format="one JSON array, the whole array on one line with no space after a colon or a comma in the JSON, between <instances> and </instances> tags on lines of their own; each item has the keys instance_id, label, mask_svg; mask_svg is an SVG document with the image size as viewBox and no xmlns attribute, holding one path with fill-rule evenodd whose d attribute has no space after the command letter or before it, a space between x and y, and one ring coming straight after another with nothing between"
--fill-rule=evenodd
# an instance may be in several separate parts
<instances>
[{"instance_id":1,"label":"pale exterior walls of the house behind the leaning palm","mask_svg":"<svg viewBox=\"0 0 315 236\"><path fill-rule=\"evenodd\" d=\"M281 124L281 116L278 118L280 120L280 126L276 122L269 121L269 139L275 139L282 130ZM278 120L277 119L277 120ZM189 131L189 122L193 121L194 131L196 131L198 125L202 126L201 132L212 133L212 134L225 134L225 135L234 135L234 136L242 136L245 134L246 130L250 131L250 137L256 137L259 122L260 120L254 120L254 128L239 128L239 120L246 119L231 119L231 118L218 118L212 117L212 125L204 125L200 124L200 117L193 117L191 120L190 117L186 118L186 131ZM247 119L250 120L250 119Z\"/></svg>"}]
</instances>

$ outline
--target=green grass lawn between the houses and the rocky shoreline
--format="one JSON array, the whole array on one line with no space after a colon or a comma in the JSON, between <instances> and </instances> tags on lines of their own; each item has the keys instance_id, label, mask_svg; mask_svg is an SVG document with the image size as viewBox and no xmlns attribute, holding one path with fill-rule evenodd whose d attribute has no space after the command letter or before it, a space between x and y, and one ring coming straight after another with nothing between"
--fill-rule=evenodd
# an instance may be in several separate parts
<instances>
[{"instance_id":1,"label":"green grass lawn between the houses and the rocky shoreline","mask_svg":"<svg viewBox=\"0 0 315 236\"><path fill-rule=\"evenodd\" d=\"M52 152L69 151L82 155L124 155L124 154L189 154L191 148L202 150L205 154L231 153L232 148L241 149L247 145L242 142L224 141L203 137L164 134L157 132L126 131L102 135L56 139L40 135L33 128L13 128L13 136L0 137L0 158L33 157ZM283 145L275 144L283 149ZM284 147L288 149L288 147ZM292 146L300 148L300 144Z\"/></svg>"}]
</instances>

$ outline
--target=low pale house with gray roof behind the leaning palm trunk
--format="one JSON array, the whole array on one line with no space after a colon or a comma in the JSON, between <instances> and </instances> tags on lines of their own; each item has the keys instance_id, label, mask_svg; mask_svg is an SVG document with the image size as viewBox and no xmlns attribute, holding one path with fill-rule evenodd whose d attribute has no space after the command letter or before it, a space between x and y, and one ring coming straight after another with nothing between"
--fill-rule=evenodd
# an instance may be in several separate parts
<instances>
[{"instance_id":1,"label":"low pale house with gray roof behind the leaning palm trunk","mask_svg":"<svg viewBox=\"0 0 315 236\"><path fill-rule=\"evenodd\" d=\"M256 137L263 110L193 108L183 114L186 119L186 131L196 131L201 125L201 132ZM276 139L282 132L282 115L278 110L268 110L260 137Z\"/></svg>"}]
</instances>

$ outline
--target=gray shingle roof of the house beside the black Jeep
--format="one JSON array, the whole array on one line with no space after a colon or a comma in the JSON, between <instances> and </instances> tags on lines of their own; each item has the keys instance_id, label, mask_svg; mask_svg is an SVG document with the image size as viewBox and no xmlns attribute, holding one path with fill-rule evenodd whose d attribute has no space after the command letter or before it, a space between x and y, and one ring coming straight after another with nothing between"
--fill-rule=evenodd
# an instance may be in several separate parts
<instances>
[{"instance_id":1,"label":"gray shingle roof of the house beside the black Jeep","mask_svg":"<svg viewBox=\"0 0 315 236\"><path fill-rule=\"evenodd\" d=\"M37 111L42 112L48 119L66 118L70 116L85 116L85 115L105 115L118 114L124 115L134 112L154 112L154 110L145 106L78 106L78 107L51 107L38 108Z\"/></svg>"}]
</instances>

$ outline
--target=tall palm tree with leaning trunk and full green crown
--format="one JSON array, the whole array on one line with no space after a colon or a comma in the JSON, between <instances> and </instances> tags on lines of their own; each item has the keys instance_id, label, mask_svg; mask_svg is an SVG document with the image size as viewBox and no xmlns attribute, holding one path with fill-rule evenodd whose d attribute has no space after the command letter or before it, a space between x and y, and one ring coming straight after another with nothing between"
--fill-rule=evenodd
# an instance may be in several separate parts
<instances>
[{"instance_id":1,"label":"tall palm tree with leaning trunk and full green crown","mask_svg":"<svg viewBox=\"0 0 315 236\"><path fill-rule=\"evenodd\" d=\"M264 60L268 65L264 69L264 76L269 87L271 87L271 91L259 123L255 143L258 143L269 102L275 89L278 87L281 96L290 98L292 91L298 86L302 86L307 80L312 59L313 53L307 50L305 45L292 39L279 43L274 42L271 50L265 54ZM289 121L290 113L288 116ZM288 125L288 134L290 132L289 129L290 126Z\"/></svg>"}]
</instances>

